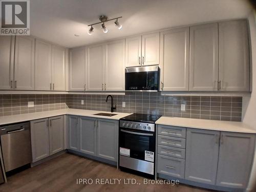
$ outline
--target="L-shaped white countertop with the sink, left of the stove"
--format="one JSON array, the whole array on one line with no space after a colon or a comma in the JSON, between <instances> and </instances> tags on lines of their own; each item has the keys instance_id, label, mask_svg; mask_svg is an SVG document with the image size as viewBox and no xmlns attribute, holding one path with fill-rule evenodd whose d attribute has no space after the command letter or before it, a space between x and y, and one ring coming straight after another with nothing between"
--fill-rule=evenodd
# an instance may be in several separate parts
<instances>
[{"instance_id":1,"label":"L-shaped white countertop with the sink, left of the stove","mask_svg":"<svg viewBox=\"0 0 256 192\"><path fill-rule=\"evenodd\" d=\"M78 116L95 117L95 118L102 118L102 119L119 120L122 117L132 114L132 113L114 112L114 114L117 114L117 115L114 115L112 117L106 117L106 116L93 115L96 113L110 113L110 112L78 110L78 109L64 109L64 110L27 113L27 114L20 114L20 115L8 115L8 116L0 117L0 125L9 124L9 123L17 123L17 122L22 122L22 121L30 121L30 120L35 120L35 119L42 119L42 118L53 117L53 116L58 116L58 115L78 115Z\"/></svg>"}]
</instances>

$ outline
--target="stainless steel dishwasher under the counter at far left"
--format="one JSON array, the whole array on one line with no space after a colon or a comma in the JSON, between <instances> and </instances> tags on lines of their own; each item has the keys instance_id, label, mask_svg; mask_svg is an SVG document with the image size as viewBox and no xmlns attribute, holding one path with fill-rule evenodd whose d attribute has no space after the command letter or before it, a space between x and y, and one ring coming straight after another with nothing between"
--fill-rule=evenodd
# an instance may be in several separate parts
<instances>
[{"instance_id":1,"label":"stainless steel dishwasher under the counter at far left","mask_svg":"<svg viewBox=\"0 0 256 192\"><path fill-rule=\"evenodd\" d=\"M0 128L5 172L31 163L30 122L12 124Z\"/></svg>"}]
</instances>

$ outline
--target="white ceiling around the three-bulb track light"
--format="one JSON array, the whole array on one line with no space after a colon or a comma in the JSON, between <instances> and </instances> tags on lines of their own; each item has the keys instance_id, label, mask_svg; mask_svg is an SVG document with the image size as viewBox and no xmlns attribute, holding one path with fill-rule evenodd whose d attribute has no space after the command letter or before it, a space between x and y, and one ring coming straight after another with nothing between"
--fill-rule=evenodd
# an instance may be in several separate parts
<instances>
[{"instance_id":1,"label":"white ceiling around the three-bulb track light","mask_svg":"<svg viewBox=\"0 0 256 192\"><path fill-rule=\"evenodd\" d=\"M30 0L31 35L68 48L175 26L215 20L246 18L246 0ZM108 33L94 26L100 15L123 16L119 23L106 23ZM80 36L75 37L77 33Z\"/></svg>"}]
</instances>

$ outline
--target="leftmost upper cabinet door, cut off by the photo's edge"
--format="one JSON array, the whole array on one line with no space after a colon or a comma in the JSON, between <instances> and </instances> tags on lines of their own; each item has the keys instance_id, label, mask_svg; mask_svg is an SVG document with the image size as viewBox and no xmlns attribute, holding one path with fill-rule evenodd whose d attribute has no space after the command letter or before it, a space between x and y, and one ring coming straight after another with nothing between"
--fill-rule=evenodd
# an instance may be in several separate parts
<instances>
[{"instance_id":1,"label":"leftmost upper cabinet door, cut off by the photo's edge","mask_svg":"<svg viewBox=\"0 0 256 192\"><path fill-rule=\"evenodd\" d=\"M0 89L13 89L15 36L0 35Z\"/></svg>"}]
</instances>

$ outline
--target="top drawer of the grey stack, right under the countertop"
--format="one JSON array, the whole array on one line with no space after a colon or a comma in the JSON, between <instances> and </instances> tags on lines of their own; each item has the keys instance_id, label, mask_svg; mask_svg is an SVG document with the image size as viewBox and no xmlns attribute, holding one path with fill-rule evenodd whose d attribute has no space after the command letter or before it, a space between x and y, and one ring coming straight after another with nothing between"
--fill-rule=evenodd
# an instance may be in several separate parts
<instances>
[{"instance_id":1,"label":"top drawer of the grey stack, right under the countertop","mask_svg":"<svg viewBox=\"0 0 256 192\"><path fill-rule=\"evenodd\" d=\"M157 125L159 135L186 138L186 128L180 126Z\"/></svg>"}]
</instances>

